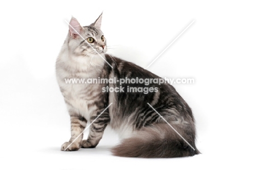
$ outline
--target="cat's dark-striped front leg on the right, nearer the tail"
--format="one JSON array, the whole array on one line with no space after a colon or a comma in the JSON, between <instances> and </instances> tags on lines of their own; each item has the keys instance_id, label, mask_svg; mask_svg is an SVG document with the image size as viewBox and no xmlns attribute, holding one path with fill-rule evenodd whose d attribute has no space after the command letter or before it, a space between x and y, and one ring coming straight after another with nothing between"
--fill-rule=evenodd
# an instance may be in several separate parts
<instances>
[{"instance_id":1,"label":"cat's dark-striped front leg on the right, nearer the tail","mask_svg":"<svg viewBox=\"0 0 256 170\"><path fill-rule=\"evenodd\" d=\"M91 122L97 118L97 115L90 118ZM83 140L81 143L82 148L95 148L100 142L109 121L110 118L108 113L100 115L100 117L91 124L88 139Z\"/></svg>"}]
</instances>

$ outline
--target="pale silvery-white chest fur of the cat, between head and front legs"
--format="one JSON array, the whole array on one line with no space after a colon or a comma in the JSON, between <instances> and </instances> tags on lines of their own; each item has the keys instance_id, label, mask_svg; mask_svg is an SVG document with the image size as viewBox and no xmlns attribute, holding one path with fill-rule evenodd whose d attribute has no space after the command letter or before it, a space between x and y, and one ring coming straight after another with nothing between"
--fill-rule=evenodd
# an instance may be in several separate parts
<instances>
[{"instance_id":1,"label":"pale silvery-white chest fur of the cat, between head and front legs","mask_svg":"<svg viewBox=\"0 0 256 170\"><path fill-rule=\"evenodd\" d=\"M80 114L90 120L90 115L97 109L92 103L95 102L94 96L97 95L98 86L88 83L74 83L74 81L67 83L67 79L84 79L86 82L86 79L98 78L102 72L104 61L98 57L91 61L88 60L89 58L72 61L63 56L58 59L56 77L69 113ZM90 107L88 107L89 105Z\"/></svg>"}]
</instances>

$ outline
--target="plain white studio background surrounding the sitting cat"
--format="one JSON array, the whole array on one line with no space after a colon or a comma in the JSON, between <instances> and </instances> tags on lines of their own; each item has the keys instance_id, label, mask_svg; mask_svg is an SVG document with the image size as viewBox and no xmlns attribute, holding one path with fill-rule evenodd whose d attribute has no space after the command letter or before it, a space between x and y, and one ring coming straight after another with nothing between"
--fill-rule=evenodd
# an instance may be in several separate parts
<instances>
[{"instance_id":1,"label":"plain white studio background surrounding the sitting cat","mask_svg":"<svg viewBox=\"0 0 256 170\"><path fill-rule=\"evenodd\" d=\"M147 67L193 20L149 71L194 78L174 84L193 109L197 148L179 159L112 156L107 129L95 149L60 151L69 116L55 79L68 32L103 11L109 53ZM0 4L1 169L254 169L255 45L253 1L10 1Z\"/></svg>"}]
</instances>

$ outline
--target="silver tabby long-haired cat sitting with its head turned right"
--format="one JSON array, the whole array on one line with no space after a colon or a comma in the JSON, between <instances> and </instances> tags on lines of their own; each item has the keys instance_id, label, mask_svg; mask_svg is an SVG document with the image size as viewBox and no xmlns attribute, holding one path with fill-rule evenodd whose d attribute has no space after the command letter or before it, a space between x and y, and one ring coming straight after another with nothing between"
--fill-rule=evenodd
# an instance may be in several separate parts
<instances>
[{"instance_id":1,"label":"silver tabby long-haired cat sitting with its head turned right","mask_svg":"<svg viewBox=\"0 0 256 170\"><path fill-rule=\"evenodd\" d=\"M116 156L150 158L199 154L195 146L193 114L173 86L168 83L120 83L119 80L125 78L161 78L132 62L107 54L107 39L101 31L101 21L102 14L91 25L82 27L72 17L66 40L56 60L56 79L71 119L71 138L62 144L61 150L95 148L109 125L121 138L121 143L112 148ZM66 83L65 80L71 78L117 81ZM153 89L148 93L127 92L130 87ZM83 134L80 134L88 122L92 122L89 136L83 140Z\"/></svg>"}]
</instances>

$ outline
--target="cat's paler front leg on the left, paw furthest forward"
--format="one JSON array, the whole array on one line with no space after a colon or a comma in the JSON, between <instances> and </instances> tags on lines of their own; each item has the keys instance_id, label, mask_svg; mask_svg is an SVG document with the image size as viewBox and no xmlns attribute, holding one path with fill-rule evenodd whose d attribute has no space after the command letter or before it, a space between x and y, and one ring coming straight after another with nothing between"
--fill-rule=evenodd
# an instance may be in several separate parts
<instances>
[{"instance_id":1,"label":"cat's paler front leg on the left, paw furthest forward","mask_svg":"<svg viewBox=\"0 0 256 170\"><path fill-rule=\"evenodd\" d=\"M83 131L86 127L87 120L82 116L70 116L71 120L71 138L61 146L62 151L75 151L80 149L83 140ZM79 137L78 137L79 136Z\"/></svg>"}]
</instances>

